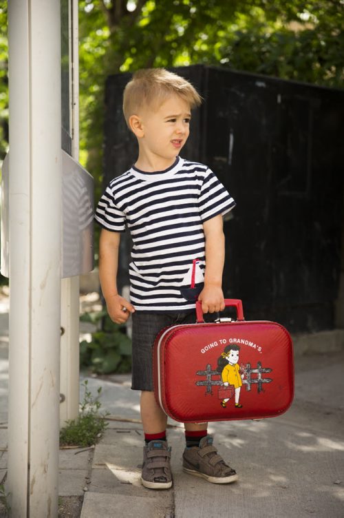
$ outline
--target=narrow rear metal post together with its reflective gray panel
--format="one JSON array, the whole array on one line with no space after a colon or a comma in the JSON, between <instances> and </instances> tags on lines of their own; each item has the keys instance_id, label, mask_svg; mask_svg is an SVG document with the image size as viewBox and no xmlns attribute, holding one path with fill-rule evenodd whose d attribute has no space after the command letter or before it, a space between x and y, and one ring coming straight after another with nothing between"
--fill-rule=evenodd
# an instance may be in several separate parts
<instances>
[{"instance_id":1,"label":"narrow rear metal post together with its reflective gray panel","mask_svg":"<svg viewBox=\"0 0 344 518\"><path fill-rule=\"evenodd\" d=\"M61 1L63 25L63 267L60 424L78 417L79 278L94 268L93 178L78 163L78 0Z\"/></svg>"}]
</instances>

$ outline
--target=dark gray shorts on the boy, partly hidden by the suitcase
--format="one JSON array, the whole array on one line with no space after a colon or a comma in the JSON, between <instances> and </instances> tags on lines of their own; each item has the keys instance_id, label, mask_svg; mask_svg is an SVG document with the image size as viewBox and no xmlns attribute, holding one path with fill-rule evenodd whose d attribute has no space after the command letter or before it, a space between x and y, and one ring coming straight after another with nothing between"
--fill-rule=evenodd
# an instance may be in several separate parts
<instances>
[{"instance_id":1,"label":"dark gray shorts on the boy, partly hidden by the suitcase","mask_svg":"<svg viewBox=\"0 0 344 518\"><path fill-rule=\"evenodd\" d=\"M204 315L206 322L213 322L218 313ZM149 313L135 311L132 334L131 388L134 391L153 391L153 343L164 327L179 324L195 324L196 313Z\"/></svg>"}]
</instances>

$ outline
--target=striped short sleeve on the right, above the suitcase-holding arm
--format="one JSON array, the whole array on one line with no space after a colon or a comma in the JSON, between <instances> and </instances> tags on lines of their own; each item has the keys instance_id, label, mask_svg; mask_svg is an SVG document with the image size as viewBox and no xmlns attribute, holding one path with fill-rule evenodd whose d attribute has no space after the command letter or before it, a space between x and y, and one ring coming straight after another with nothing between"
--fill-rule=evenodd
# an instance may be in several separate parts
<instances>
[{"instance_id":1,"label":"striped short sleeve on the right, above the suitcase-holding arm","mask_svg":"<svg viewBox=\"0 0 344 518\"><path fill-rule=\"evenodd\" d=\"M198 203L202 222L218 214L224 216L224 214L235 207L235 200L233 200L211 169L206 170Z\"/></svg>"}]
</instances>

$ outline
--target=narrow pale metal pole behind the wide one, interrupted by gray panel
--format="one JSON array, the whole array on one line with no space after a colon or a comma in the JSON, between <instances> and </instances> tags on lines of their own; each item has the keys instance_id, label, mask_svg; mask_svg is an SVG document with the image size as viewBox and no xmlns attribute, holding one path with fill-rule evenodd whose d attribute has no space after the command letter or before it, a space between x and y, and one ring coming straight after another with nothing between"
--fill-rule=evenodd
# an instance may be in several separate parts
<instances>
[{"instance_id":1,"label":"narrow pale metal pole behind the wide one, interrupted by gray panel","mask_svg":"<svg viewBox=\"0 0 344 518\"><path fill-rule=\"evenodd\" d=\"M70 113L72 128L72 157L79 159L79 68L78 68L78 0L71 1L69 28L71 37ZM79 278L61 280L61 376L60 424L76 419L79 408Z\"/></svg>"}]
</instances>

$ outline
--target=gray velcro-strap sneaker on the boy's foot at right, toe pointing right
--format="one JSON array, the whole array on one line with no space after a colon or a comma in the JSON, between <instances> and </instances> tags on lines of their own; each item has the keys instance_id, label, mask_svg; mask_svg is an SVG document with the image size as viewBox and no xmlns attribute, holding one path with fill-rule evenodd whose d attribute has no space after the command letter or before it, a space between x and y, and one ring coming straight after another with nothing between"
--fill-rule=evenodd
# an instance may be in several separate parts
<instances>
[{"instance_id":1,"label":"gray velcro-strap sneaker on the boy's foot at right, toe pointing right","mask_svg":"<svg viewBox=\"0 0 344 518\"><path fill-rule=\"evenodd\" d=\"M200 447L185 448L183 470L190 475L203 477L213 484L230 484L238 479L235 470L227 466L221 455L217 453L211 435L200 440Z\"/></svg>"}]
</instances>

